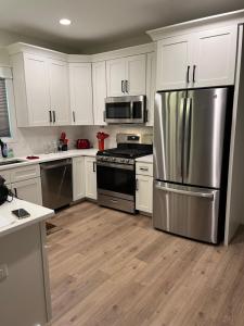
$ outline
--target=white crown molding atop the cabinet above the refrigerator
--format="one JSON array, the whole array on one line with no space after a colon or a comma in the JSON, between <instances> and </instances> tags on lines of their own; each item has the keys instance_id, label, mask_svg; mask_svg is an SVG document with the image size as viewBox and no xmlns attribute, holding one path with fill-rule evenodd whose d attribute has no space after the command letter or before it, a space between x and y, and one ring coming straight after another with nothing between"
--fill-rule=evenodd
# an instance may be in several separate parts
<instances>
[{"instance_id":1,"label":"white crown molding atop the cabinet above the refrigerator","mask_svg":"<svg viewBox=\"0 0 244 326\"><path fill-rule=\"evenodd\" d=\"M146 34L153 39L153 41L158 41L160 39L175 36L176 34L184 35L189 33L201 32L204 29L218 28L227 25L237 25L243 23L244 10L239 10L147 30Z\"/></svg>"}]
</instances>

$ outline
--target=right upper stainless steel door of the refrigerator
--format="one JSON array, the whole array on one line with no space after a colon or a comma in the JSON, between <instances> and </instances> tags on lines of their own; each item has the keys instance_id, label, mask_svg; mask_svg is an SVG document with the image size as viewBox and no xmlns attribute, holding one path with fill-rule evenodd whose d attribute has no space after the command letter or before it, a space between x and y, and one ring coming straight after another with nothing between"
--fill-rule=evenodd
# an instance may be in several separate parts
<instances>
[{"instance_id":1,"label":"right upper stainless steel door of the refrigerator","mask_svg":"<svg viewBox=\"0 0 244 326\"><path fill-rule=\"evenodd\" d=\"M183 184L220 188L228 88L190 90Z\"/></svg>"}]
</instances>

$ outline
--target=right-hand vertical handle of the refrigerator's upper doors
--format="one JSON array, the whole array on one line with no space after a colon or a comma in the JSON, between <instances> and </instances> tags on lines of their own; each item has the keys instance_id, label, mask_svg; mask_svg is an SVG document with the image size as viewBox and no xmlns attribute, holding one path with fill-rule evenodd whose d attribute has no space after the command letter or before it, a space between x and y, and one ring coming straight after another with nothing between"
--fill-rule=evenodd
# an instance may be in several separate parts
<instances>
[{"instance_id":1,"label":"right-hand vertical handle of the refrigerator's upper doors","mask_svg":"<svg viewBox=\"0 0 244 326\"><path fill-rule=\"evenodd\" d=\"M189 176L192 138L192 98L187 99L185 123L184 123L184 146L183 146L183 181Z\"/></svg>"}]
</instances>

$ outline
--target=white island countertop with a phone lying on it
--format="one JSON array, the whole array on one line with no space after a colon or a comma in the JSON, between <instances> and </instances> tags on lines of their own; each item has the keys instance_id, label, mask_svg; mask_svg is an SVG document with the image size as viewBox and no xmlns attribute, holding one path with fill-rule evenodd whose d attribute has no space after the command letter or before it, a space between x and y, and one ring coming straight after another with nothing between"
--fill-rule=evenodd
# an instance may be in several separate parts
<instances>
[{"instance_id":1,"label":"white island countertop with a phone lying on it","mask_svg":"<svg viewBox=\"0 0 244 326\"><path fill-rule=\"evenodd\" d=\"M30 216L18 220L11 212L14 210L24 209L26 210ZM12 202L5 202L0 205L0 223L2 225L3 222L8 224L0 227L0 237L16 231L26 226L39 223L54 215L54 211L50 209L46 209L43 206L36 205L34 203L13 199Z\"/></svg>"}]
</instances>

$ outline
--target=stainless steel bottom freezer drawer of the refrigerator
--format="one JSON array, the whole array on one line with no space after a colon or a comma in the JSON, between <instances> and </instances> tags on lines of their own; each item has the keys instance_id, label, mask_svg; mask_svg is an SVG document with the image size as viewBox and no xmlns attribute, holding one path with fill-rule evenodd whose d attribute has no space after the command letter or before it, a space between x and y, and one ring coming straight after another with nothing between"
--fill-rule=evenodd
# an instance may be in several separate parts
<instances>
[{"instance_id":1,"label":"stainless steel bottom freezer drawer of the refrigerator","mask_svg":"<svg viewBox=\"0 0 244 326\"><path fill-rule=\"evenodd\" d=\"M188 238L217 243L219 190L155 181L153 226Z\"/></svg>"}]
</instances>

